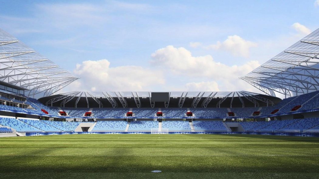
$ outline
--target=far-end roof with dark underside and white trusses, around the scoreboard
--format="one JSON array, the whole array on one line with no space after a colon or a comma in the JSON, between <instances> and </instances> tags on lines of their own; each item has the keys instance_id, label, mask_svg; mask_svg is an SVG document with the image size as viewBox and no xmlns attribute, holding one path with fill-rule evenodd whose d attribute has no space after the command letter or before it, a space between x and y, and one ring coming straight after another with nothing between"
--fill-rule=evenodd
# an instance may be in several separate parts
<instances>
[{"instance_id":1,"label":"far-end roof with dark underside and white trusses, around the scoreboard","mask_svg":"<svg viewBox=\"0 0 319 179\"><path fill-rule=\"evenodd\" d=\"M155 92L156 93L156 92ZM152 102L152 92L82 92L55 94L40 98L48 106L57 107L262 107L277 104L273 96L235 92L167 92L163 102Z\"/></svg>"}]
</instances>

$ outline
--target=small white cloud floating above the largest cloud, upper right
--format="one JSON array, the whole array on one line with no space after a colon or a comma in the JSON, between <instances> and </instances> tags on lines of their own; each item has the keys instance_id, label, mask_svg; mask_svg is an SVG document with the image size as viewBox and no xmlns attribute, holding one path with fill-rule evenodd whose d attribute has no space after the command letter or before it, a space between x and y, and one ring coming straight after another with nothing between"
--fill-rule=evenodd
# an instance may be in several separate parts
<instances>
[{"instance_id":1,"label":"small white cloud floating above the largest cloud, upper right","mask_svg":"<svg viewBox=\"0 0 319 179\"><path fill-rule=\"evenodd\" d=\"M255 42L251 42L241 38L238 35L228 36L224 42L218 41L214 45L205 48L214 50L225 50L231 52L234 56L249 57L249 49L256 47Z\"/></svg>"}]
</instances>

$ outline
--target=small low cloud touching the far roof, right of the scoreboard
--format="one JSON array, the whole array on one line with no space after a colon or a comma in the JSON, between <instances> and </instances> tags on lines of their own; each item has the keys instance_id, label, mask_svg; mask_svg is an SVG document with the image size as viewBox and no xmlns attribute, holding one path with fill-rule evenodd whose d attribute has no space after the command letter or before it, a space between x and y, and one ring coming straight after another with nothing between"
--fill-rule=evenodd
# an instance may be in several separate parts
<instances>
[{"instance_id":1,"label":"small low cloud touching the far roof, right of the scoreboard","mask_svg":"<svg viewBox=\"0 0 319 179\"><path fill-rule=\"evenodd\" d=\"M187 91L219 91L216 81L191 82L185 85Z\"/></svg>"}]
</instances>

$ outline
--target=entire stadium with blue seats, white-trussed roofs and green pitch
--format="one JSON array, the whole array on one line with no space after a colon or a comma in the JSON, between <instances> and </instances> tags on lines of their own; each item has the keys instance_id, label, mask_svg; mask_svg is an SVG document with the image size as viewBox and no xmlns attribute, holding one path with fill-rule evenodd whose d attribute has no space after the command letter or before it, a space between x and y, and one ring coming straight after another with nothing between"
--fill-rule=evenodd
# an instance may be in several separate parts
<instances>
[{"instance_id":1,"label":"entire stadium with blue seats, white-trussed roofs and green pitch","mask_svg":"<svg viewBox=\"0 0 319 179\"><path fill-rule=\"evenodd\" d=\"M0 178L318 178L319 29L249 91L78 91L0 29ZM275 55L275 54L274 54Z\"/></svg>"}]
</instances>

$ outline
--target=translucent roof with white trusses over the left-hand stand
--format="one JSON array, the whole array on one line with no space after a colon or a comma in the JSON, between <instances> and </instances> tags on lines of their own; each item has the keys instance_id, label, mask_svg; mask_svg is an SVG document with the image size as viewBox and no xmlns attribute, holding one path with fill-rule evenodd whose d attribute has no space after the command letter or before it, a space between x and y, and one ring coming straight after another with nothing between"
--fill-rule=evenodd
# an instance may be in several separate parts
<instances>
[{"instance_id":1,"label":"translucent roof with white trusses over the left-hand stand","mask_svg":"<svg viewBox=\"0 0 319 179\"><path fill-rule=\"evenodd\" d=\"M78 79L0 29L0 81L27 89L29 97L48 96Z\"/></svg>"}]
</instances>

